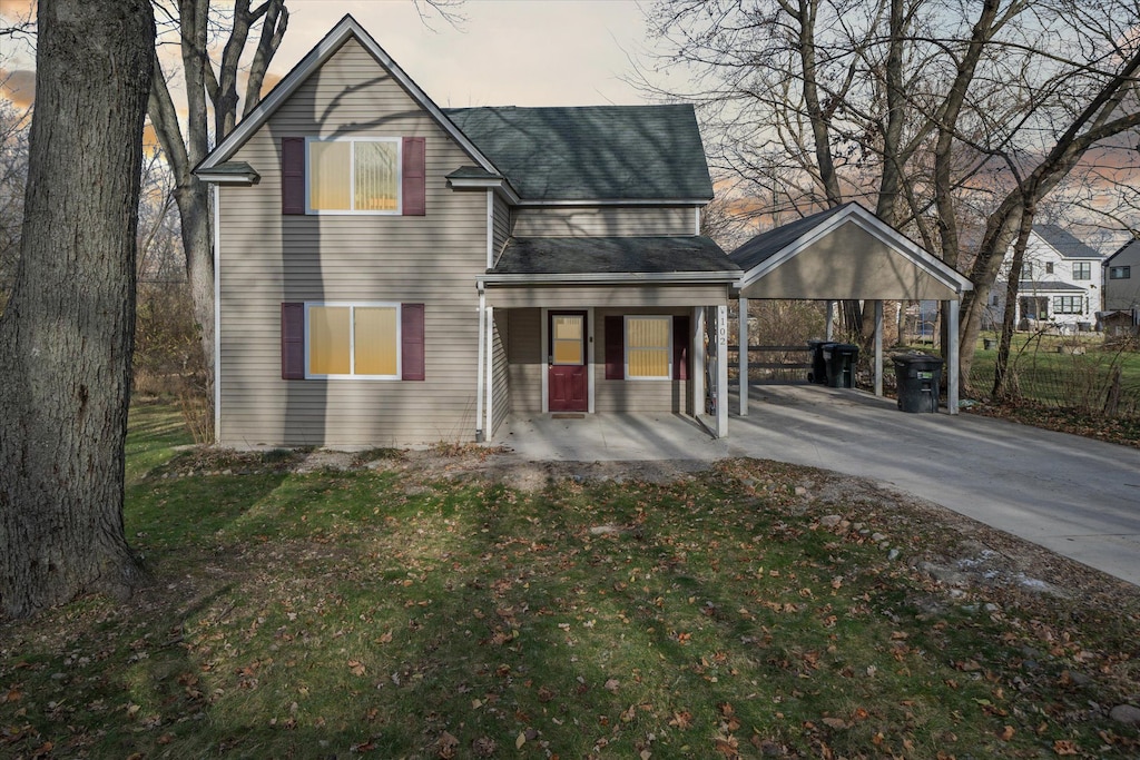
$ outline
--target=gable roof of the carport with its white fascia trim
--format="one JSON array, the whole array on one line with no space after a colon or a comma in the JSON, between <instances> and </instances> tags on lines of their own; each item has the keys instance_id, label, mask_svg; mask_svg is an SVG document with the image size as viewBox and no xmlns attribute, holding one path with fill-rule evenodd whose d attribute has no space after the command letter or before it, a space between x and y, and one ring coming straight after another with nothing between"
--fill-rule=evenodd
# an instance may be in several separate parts
<instances>
[{"instance_id":1,"label":"gable roof of the carport with its white fascia trim","mask_svg":"<svg viewBox=\"0 0 1140 760\"><path fill-rule=\"evenodd\" d=\"M728 254L728 258L744 270L740 279L741 292L846 224L854 224L894 254L910 261L917 271L930 277L943 287L958 294L974 289L974 285L964 275L917 245L860 204L850 202L757 235ZM850 296L846 293L833 293L829 294L828 297Z\"/></svg>"}]
</instances>

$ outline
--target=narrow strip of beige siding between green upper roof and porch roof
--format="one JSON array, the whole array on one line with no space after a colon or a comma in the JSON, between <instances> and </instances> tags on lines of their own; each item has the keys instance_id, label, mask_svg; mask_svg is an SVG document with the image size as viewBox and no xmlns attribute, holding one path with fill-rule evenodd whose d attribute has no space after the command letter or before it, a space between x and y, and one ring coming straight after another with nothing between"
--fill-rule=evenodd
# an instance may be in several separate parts
<instances>
[{"instance_id":1,"label":"narrow strip of beige siding between green upper roof and porch roof","mask_svg":"<svg viewBox=\"0 0 1140 760\"><path fill-rule=\"evenodd\" d=\"M515 237L693 235L692 206L594 206L515 210Z\"/></svg>"}]
</instances>

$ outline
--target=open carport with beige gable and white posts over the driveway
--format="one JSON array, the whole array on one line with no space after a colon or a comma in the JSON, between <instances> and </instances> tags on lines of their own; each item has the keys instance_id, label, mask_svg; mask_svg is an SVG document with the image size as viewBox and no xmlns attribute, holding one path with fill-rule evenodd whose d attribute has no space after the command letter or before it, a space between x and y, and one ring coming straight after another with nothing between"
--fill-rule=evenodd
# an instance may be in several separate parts
<instances>
[{"instance_id":1,"label":"open carport with beige gable and white posts over the driveway","mask_svg":"<svg viewBox=\"0 0 1140 760\"><path fill-rule=\"evenodd\" d=\"M748 415L748 302L751 299L826 301L828 329L836 301L874 304L874 394L882 395L882 302L940 301L950 335L970 281L857 203L772 229L730 258L740 279L740 415ZM946 356L947 406L958 414L958 341Z\"/></svg>"}]
</instances>

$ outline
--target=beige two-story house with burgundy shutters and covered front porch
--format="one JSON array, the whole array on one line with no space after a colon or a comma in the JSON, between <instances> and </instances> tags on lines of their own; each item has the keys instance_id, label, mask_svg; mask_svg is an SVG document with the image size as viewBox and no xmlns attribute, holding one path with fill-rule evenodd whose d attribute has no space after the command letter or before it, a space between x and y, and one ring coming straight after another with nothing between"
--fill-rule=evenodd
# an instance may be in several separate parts
<instances>
[{"instance_id":1,"label":"beige two-story house with burgundy shutters and covered front porch","mask_svg":"<svg viewBox=\"0 0 1140 760\"><path fill-rule=\"evenodd\" d=\"M700 235L690 106L440 108L347 16L196 173L222 444L491 440L512 412L727 433L741 270Z\"/></svg>"}]
</instances>

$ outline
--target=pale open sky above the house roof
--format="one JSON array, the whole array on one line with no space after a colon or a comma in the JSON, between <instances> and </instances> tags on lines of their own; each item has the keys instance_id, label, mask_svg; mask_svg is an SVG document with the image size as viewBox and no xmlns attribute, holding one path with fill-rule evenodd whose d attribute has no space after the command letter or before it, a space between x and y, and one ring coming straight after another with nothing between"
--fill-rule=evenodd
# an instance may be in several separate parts
<instances>
[{"instance_id":1,"label":"pale open sky above the house roof","mask_svg":"<svg viewBox=\"0 0 1140 760\"><path fill-rule=\"evenodd\" d=\"M0 16L30 0L0 0ZM638 104L625 81L646 60L642 3L634 0L466 0L453 26L412 0L288 0L288 31L270 73L284 76L344 14L352 14L440 106ZM31 97L33 54L0 38L3 92Z\"/></svg>"}]
</instances>

